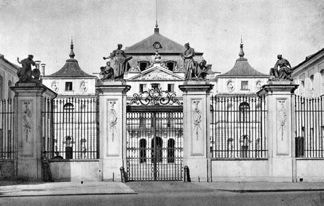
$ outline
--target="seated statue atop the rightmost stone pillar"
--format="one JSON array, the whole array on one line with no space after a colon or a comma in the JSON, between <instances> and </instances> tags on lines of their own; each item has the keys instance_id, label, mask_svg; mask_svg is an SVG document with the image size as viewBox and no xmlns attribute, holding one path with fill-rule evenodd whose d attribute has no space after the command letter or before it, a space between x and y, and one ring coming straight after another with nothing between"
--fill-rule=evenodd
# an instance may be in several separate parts
<instances>
[{"instance_id":1,"label":"seated statue atop the rightmost stone pillar","mask_svg":"<svg viewBox=\"0 0 324 206\"><path fill-rule=\"evenodd\" d=\"M286 60L285 58L282 58L281 54L278 54L277 58L278 60L274 65L274 68L270 69L270 76L272 76L273 80L292 81L292 67L290 66L290 62L288 62L288 60Z\"/></svg>"}]
</instances>

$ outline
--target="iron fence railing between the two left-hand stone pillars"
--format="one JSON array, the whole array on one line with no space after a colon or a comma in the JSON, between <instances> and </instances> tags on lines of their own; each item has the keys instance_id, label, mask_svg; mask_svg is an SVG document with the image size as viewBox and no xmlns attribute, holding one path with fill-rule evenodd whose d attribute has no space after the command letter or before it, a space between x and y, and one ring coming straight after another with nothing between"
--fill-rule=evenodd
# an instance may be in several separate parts
<instances>
[{"instance_id":1,"label":"iron fence railing between the two left-hand stone pillars","mask_svg":"<svg viewBox=\"0 0 324 206\"><path fill-rule=\"evenodd\" d=\"M98 98L44 100L43 134L49 157L99 158Z\"/></svg>"}]
</instances>

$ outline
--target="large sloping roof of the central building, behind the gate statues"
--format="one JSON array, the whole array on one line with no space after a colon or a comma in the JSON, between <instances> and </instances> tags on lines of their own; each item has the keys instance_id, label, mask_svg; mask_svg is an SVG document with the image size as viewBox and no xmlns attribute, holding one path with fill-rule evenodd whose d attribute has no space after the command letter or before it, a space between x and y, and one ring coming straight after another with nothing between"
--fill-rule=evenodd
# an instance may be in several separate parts
<instances>
[{"instance_id":1,"label":"large sloping roof of the central building, behind the gate statues","mask_svg":"<svg viewBox=\"0 0 324 206\"><path fill-rule=\"evenodd\" d=\"M154 43L160 43L161 47L158 49L160 54L180 54L186 50L183 45L180 43L176 43L172 41L170 38L166 38L159 32L159 28L155 28L154 34L151 36L144 38L142 41L131 45L130 47L125 47L124 52L126 54L154 54L157 50L153 47ZM196 54L202 55L202 52L195 52Z\"/></svg>"}]
</instances>

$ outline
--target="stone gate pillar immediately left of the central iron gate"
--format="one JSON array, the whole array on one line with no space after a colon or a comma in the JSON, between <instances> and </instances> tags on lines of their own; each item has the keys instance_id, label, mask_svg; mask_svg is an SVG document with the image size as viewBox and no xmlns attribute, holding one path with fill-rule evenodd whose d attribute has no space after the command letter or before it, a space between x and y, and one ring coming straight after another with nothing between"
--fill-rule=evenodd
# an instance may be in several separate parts
<instances>
[{"instance_id":1,"label":"stone gate pillar immediately left of the central iron gate","mask_svg":"<svg viewBox=\"0 0 324 206\"><path fill-rule=\"evenodd\" d=\"M99 178L120 180L120 167L125 167L126 158L126 93L131 86L110 81L101 82L96 89L100 119Z\"/></svg>"}]
</instances>

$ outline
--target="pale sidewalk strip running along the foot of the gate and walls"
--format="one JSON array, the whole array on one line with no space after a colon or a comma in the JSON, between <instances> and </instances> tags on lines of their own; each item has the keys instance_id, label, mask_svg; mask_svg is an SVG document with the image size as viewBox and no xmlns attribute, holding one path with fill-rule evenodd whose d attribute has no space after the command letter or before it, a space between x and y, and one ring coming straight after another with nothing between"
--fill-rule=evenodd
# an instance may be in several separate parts
<instances>
[{"instance_id":1,"label":"pale sidewalk strip running along the foot of the gate and walls","mask_svg":"<svg viewBox=\"0 0 324 206\"><path fill-rule=\"evenodd\" d=\"M323 183L184 183L184 182L54 182L0 186L1 197L138 194L159 192L298 192L324 191Z\"/></svg>"}]
</instances>

